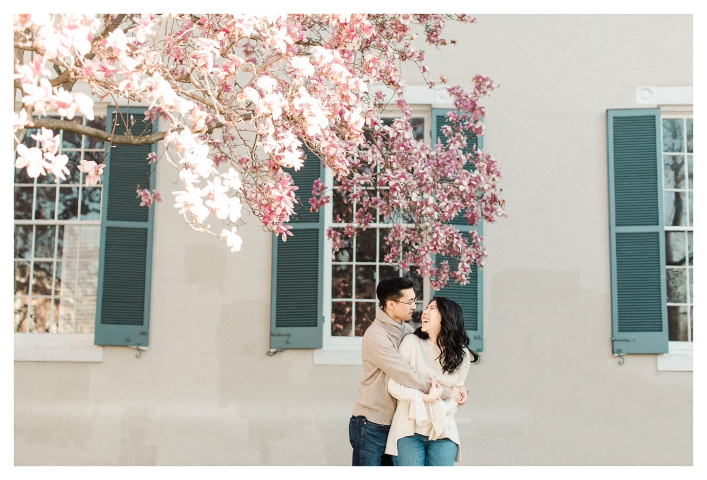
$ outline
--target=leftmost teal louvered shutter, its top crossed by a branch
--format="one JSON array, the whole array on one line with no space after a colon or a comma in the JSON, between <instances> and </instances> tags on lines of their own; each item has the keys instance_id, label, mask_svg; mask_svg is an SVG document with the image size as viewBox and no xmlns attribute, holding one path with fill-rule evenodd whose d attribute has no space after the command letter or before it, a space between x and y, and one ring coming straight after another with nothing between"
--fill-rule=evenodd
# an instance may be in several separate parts
<instances>
[{"instance_id":1,"label":"leftmost teal louvered shutter, its top crossed by a branch","mask_svg":"<svg viewBox=\"0 0 707 480\"><path fill-rule=\"evenodd\" d=\"M152 131L144 109L130 109L132 131ZM115 112L109 112L112 128ZM126 133L118 116L115 134ZM152 146L117 145L110 149L103 173L100 264L96 304L96 345L148 346L153 209L140 206L136 188L153 188L148 153Z\"/></svg>"}]
</instances>

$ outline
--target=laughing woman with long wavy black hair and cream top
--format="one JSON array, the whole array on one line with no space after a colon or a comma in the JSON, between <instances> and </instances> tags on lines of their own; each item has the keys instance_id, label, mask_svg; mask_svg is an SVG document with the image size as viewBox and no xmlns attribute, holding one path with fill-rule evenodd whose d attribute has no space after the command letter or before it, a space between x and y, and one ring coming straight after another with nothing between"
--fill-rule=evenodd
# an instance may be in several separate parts
<instances>
[{"instance_id":1,"label":"laughing woman with long wavy black hair and cream top","mask_svg":"<svg viewBox=\"0 0 707 480\"><path fill-rule=\"evenodd\" d=\"M400 343L400 354L412 368L431 380L428 394L388 380L397 398L385 453L397 466L452 466L460 459L459 433L454 414L457 402L442 400L442 387L463 387L469 373L469 337L462 308L436 297L422 312L422 326ZM476 352L474 361L478 356Z\"/></svg>"}]
</instances>

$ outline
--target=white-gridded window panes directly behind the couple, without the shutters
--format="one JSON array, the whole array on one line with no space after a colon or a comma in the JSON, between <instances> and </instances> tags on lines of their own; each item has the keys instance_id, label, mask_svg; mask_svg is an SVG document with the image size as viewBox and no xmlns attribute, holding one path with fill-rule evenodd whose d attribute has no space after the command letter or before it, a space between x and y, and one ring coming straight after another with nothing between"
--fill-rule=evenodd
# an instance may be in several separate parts
<instances>
[{"instance_id":1,"label":"white-gridded window panes directly behind the couple, without the shutters","mask_svg":"<svg viewBox=\"0 0 707 480\"><path fill-rule=\"evenodd\" d=\"M414 113L411 118L414 138L428 144L429 118L429 111L418 115ZM395 117L384 117L382 120L384 124L390 125L393 119ZM327 180L331 182L332 179ZM344 195L339 194L334 182L332 202L324 209L325 228L331 226L343 230L344 223L353 219L357 208L356 201L349 202ZM382 223L377 211L370 213L375 222L369 228L359 232L354 238L347 238L344 247L338 252L326 255L324 314L325 318L330 319L331 327L325 328L325 343L336 342L337 338L341 337L360 339L363 336L378 310L375 287L386 276L404 276L413 281L418 301L409 324L412 327L421 324L423 305L428 301L430 291L428 281L414 268L411 271L403 271L397 264L387 264L383 260L385 235L390 226ZM331 245L327 244L327 247L330 249Z\"/></svg>"}]
</instances>

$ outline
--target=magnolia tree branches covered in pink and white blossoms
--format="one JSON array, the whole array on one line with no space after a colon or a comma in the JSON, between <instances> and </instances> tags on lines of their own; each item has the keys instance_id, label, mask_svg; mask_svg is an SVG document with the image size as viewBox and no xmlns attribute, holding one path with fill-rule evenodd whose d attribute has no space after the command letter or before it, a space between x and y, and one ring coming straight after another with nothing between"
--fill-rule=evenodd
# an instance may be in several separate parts
<instances>
[{"instance_id":1,"label":"magnolia tree branches covered in pink and white blossoms","mask_svg":"<svg viewBox=\"0 0 707 480\"><path fill-rule=\"evenodd\" d=\"M303 167L308 148L331 169L341 194L358 206L346 228L327 231L335 250L346 236L368 228L377 209L392 227L386 262L416 266L434 288L449 279L467 283L472 265L481 266L486 252L479 235L464 236L449 222L463 216L476 225L504 215L496 160L469 144L472 134L484 132L479 98L494 85L475 76L468 91L448 88L456 111L448 115L445 141L428 146L413 138L399 71L402 62L412 62L434 87L424 52L414 45L420 35L433 47L446 45L445 21L475 19L16 15L16 168L30 177L51 172L60 179L78 168L95 185L103 163L69 165L59 154L59 130L109 146L162 142L160 156L146 161L177 170L174 206L194 229L237 251L244 204L285 241L293 235L288 222L298 201L309 201L313 210L331 201L331 185L320 179L311 195L297 192L288 174ZM84 86L74 92L77 84ZM79 113L93 119L94 100L143 105L160 129L146 131L124 119L127 133L117 135L110 126L103 131L73 122ZM400 118L385 125L380 112L391 107ZM35 147L20 143L27 128L37 129ZM148 207L160 200L148 189L138 189L138 197ZM457 267L435 264L434 255Z\"/></svg>"}]
</instances>

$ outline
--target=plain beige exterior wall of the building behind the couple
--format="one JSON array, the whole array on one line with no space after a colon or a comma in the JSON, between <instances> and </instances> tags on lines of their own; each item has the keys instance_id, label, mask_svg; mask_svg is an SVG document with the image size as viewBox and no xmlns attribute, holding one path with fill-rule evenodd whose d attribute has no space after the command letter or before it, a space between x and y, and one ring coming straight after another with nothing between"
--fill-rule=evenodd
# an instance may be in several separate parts
<instances>
[{"instance_id":1,"label":"plain beige exterior wall of the building behind the couple","mask_svg":"<svg viewBox=\"0 0 707 480\"><path fill-rule=\"evenodd\" d=\"M604 120L641 106L636 86L692 85L691 16L480 15L451 36L428 65L452 85L500 85L486 148L508 205L485 228L462 464L692 464L692 373L611 353ZM270 235L250 223L231 254L192 232L175 180L158 177L149 351L16 363L16 464L349 464L361 367L266 356Z\"/></svg>"}]
</instances>

